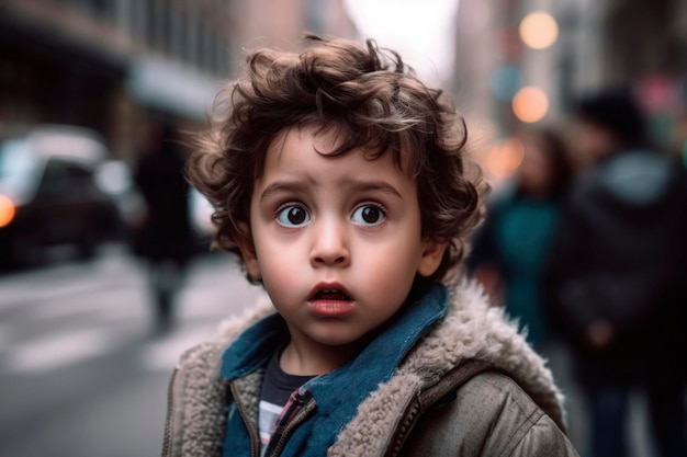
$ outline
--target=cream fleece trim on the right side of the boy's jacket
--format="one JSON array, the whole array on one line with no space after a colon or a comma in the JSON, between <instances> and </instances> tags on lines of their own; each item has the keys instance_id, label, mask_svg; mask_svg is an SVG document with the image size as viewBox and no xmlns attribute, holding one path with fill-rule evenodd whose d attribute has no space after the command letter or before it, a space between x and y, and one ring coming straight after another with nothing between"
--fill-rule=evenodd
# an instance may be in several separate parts
<instances>
[{"instance_id":1,"label":"cream fleece trim on the right side of the boy's jacket","mask_svg":"<svg viewBox=\"0 0 687 457\"><path fill-rule=\"evenodd\" d=\"M447 316L380 385L341 430L327 457L385 455L393 431L405 419L412 398L437 384L463 361L477 358L508 374L559 426L564 427L563 396L544 361L519 334L504 309L486 300L481 286L462 281L451 287Z\"/></svg>"}]
</instances>

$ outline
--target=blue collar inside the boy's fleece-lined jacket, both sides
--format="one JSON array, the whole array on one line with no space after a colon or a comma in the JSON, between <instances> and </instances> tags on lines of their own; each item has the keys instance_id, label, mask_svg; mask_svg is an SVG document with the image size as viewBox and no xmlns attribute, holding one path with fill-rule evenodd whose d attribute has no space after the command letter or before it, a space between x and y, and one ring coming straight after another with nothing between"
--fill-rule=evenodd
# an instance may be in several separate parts
<instances>
[{"instance_id":1,"label":"blue collar inside the boy's fleece-lined jacket, both sides","mask_svg":"<svg viewBox=\"0 0 687 457\"><path fill-rule=\"evenodd\" d=\"M432 286L420 300L402 308L353 361L305 384L317 404L316 420L311 418L299 425L282 455L314 456L331 446L358 407L380 384L392 378L417 341L446 315L448 300L446 286ZM279 316L267 317L249 328L224 352L222 376L232 380L261 367L283 343L284 331L285 323Z\"/></svg>"}]
</instances>

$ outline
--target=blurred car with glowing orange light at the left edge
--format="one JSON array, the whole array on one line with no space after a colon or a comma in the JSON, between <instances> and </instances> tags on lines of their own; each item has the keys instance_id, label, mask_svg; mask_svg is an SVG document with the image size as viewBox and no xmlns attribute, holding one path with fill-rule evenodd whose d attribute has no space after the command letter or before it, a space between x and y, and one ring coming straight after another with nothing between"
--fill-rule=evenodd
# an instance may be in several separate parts
<instances>
[{"instance_id":1,"label":"blurred car with glowing orange light at the left edge","mask_svg":"<svg viewBox=\"0 0 687 457\"><path fill-rule=\"evenodd\" d=\"M116 197L98 182L109 151L76 126L36 126L0 142L0 262L40 264L69 245L81 259L122 236Z\"/></svg>"}]
</instances>

